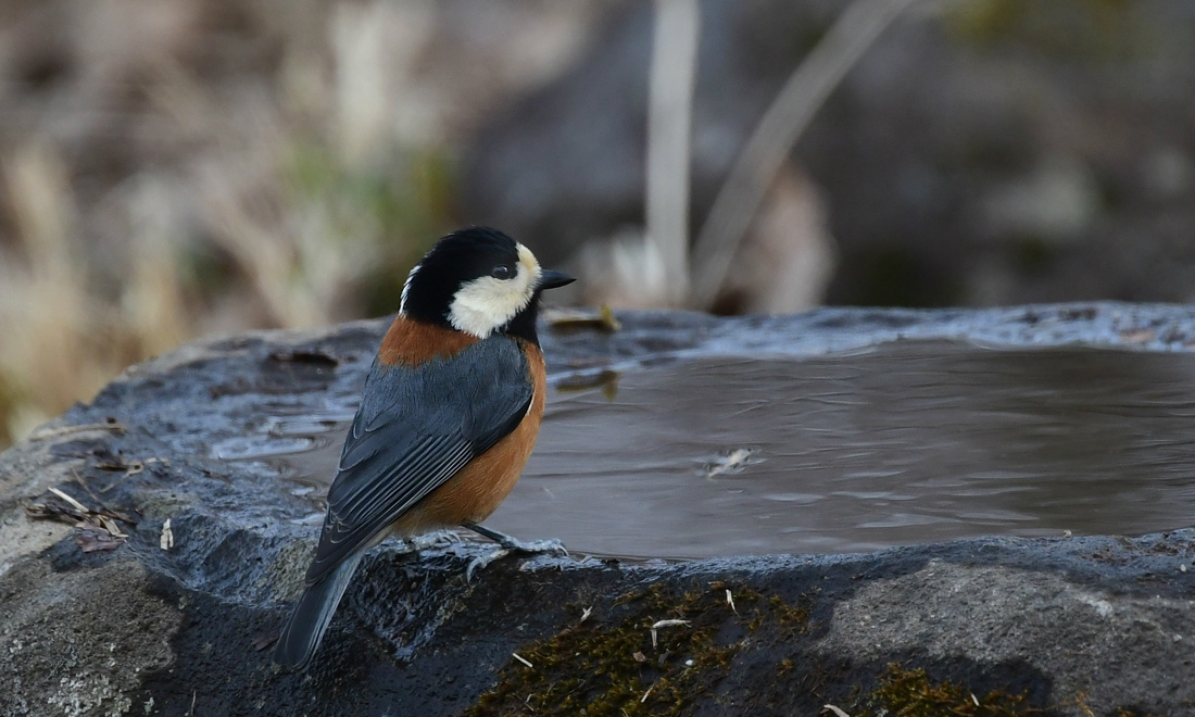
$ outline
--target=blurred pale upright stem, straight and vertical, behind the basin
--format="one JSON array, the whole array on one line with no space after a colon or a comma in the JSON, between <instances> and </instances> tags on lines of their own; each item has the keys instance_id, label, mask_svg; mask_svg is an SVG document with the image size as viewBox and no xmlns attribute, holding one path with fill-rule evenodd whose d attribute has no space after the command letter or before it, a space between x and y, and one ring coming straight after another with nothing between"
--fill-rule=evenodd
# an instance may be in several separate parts
<instances>
[{"instance_id":1,"label":"blurred pale upright stem, straight and vertical, behind the basin","mask_svg":"<svg viewBox=\"0 0 1195 717\"><path fill-rule=\"evenodd\" d=\"M646 243L663 261L661 298L688 295L688 166L701 11L697 0L656 0L648 93Z\"/></svg>"}]
</instances>

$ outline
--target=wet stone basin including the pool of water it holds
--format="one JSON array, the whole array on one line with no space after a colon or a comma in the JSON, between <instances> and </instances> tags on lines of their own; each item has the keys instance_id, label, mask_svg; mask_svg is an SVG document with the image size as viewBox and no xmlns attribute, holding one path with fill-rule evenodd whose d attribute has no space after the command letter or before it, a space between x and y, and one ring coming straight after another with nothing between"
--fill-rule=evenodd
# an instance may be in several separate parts
<instances>
[{"instance_id":1,"label":"wet stone basin including the pool of water it holds","mask_svg":"<svg viewBox=\"0 0 1195 717\"><path fill-rule=\"evenodd\" d=\"M1195 713L1195 310L619 319L543 330L490 521L572 554L386 544L300 674L268 648L386 320L129 369L0 458L0 715Z\"/></svg>"}]
</instances>

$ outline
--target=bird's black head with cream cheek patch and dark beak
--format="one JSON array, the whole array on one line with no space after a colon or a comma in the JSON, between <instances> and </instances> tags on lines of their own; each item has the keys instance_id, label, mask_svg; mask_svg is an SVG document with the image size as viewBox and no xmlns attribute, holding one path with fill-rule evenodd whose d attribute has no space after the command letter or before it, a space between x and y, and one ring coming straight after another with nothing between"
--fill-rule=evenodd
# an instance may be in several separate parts
<instances>
[{"instance_id":1,"label":"bird's black head with cream cheek patch and dark beak","mask_svg":"<svg viewBox=\"0 0 1195 717\"><path fill-rule=\"evenodd\" d=\"M540 292L572 281L541 269L529 249L502 232L470 227L441 239L411 269L399 311L479 338L498 331L538 344Z\"/></svg>"}]
</instances>

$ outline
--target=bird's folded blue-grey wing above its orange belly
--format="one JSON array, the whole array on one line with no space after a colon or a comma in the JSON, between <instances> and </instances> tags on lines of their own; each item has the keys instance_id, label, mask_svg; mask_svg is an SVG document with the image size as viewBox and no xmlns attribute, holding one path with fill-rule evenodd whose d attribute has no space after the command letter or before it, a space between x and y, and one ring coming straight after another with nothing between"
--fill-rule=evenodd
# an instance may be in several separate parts
<instances>
[{"instance_id":1,"label":"bird's folded blue-grey wing above its orange belly","mask_svg":"<svg viewBox=\"0 0 1195 717\"><path fill-rule=\"evenodd\" d=\"M307 583L513 431L533 392L526 355L501 335L416 367L375 360L327 492Z\"/></svg>"}]
</instances>

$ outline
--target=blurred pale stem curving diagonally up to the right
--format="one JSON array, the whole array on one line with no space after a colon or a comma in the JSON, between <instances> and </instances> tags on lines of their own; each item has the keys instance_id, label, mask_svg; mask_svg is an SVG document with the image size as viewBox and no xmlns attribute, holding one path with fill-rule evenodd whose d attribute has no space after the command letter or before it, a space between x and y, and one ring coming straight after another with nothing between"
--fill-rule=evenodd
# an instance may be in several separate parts
<instances>
[{"instance_id":1,"label":"blurred pale stem curving diagonally up to the right","mask_svg":"<svg viewBox=\"0 0 1195 717\"><path fill-rule=\"evenodd\" d=\"M859 57L915 0L854 0L789 78L718 192L693 246L690 304L713 304L772 178L797 139Z\"/></svg>"}]
</instances>

